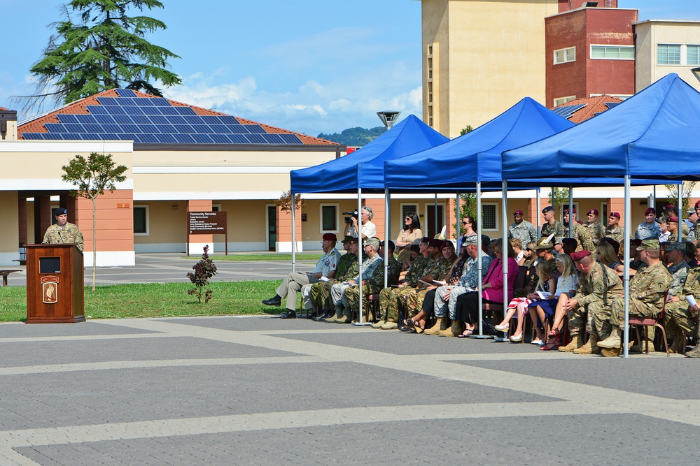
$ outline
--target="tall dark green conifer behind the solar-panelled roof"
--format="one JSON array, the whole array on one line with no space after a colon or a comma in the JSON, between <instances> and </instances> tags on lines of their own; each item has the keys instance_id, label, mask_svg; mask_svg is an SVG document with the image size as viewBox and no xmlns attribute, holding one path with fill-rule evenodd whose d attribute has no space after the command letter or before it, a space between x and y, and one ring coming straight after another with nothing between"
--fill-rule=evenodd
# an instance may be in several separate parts
<instances>
[{"instance_id":1,"label":"tall dark green conifer behind the solar-panelled roof","mask_svg":"<svg viewBox=\"0 0 700 466\"><path fill-rule=\"evenodd\" d=\"M158 0L71 0L64 5L64 20L52 24L56 33L29 70L37 79L37 92L25 98L25 108L41 105L45 99L70 103L117 87L162 96L153 82L165 87L180 84L179 76L167 69L168 59L179 57L145 38L166 29L165 23L127 15L129 10L144 8L163 8L163 4Z\"/></svg>"}]
</instances>

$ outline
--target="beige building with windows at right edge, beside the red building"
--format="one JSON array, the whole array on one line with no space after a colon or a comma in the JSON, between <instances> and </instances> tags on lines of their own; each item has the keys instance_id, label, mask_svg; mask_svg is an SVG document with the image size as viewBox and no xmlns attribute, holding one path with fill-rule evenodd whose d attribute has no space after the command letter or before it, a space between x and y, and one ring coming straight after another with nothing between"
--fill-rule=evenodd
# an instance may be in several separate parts
<instances>
[{"instance_id":1,"label":"beige building with windows at right edge, beside the red building","mask_svg":"<svg viewBox=\"0 0 700 466\"><path fill-rule=\"evenodd\" d=\"M636 92L668 73L700 91L690 72L700 66L700 21L645 20L633 24L636 36Z\"/></svg>"}]
</instances>

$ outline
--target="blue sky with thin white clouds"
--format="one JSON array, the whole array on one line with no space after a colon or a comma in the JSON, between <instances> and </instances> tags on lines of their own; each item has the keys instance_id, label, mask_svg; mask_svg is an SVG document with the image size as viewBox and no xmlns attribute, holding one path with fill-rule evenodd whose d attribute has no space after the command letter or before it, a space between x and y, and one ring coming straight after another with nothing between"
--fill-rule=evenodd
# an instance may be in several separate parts
<instances>
[{"instance_id":1,"label":"blue sky with thin white clouds","mask_svg":"<svg viewBox=\"0 0 700 466\"><path fill-rule=\"evenodd\" d=\"M700 20L698 0L619 0L640 20ZM62 1L0 0L0 106L31 94L28 73ZM181 59L170 99L316 136L380 126L378 110L421 117L421 2L163 0L150 37ZM700 41L700 38L699 38ZM14 44L10 46L10 44ZM45 110L50 110L52 106ZM31 117L20 113L20 119Z\"/></svg>"}]
</instances>

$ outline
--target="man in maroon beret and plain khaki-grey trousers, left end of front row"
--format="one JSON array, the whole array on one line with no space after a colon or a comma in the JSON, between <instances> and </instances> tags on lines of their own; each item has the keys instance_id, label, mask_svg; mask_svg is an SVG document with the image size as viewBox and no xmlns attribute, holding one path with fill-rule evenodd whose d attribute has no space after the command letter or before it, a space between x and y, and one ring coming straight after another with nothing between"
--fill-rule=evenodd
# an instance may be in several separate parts
<instances>
[{"instance_id":1,"label":"man in maroon beret and plain khaki-grey trousers, left end of front row","mask_svg":"<svg viewBox=\"0 0 700 466\"><path fill-rule=\"evenodd\" d=\"M281 319L294 319L297 316L297 291L302 289L302 286L321 281L321 277L332 278L335 275L335 269L340 261L340 253L335 249L337 238L333 233L325 233L323 235L323 252L325 254L318 259L316 267L311 272L291 272L288 274L282 283L277 287L276 294L273 298L262 301L266 306L279 306L282 303L282 298L287 298L287 312L280 315Z\"/></svg>"}]
</instances>

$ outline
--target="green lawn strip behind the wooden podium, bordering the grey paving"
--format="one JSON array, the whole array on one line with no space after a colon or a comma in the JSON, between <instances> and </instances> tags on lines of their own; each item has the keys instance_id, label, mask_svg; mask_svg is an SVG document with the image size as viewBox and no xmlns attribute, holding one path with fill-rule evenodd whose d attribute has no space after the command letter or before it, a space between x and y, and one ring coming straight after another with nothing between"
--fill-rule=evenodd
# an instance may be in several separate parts
<instances>
[{"instance_id":1,"label":"green lawn strip behind the wooden podium, bordering the grey paving","mask_svg":"<svg viewBox=\"0 0 700 466\"><path fill-rule=\"evenodd\" d=\"M85 316L92 319L158 316L214 316L225 314L279 314L278 307L267 307L261 300L274 296L279 280L258 282L214 282L214 297L207 304L197 303L187 294L191 283L149 283L97 286L94 293L85 287ZM25 286L0 286L0 322L27 319Z\"/></svg>"}]
</instances>

